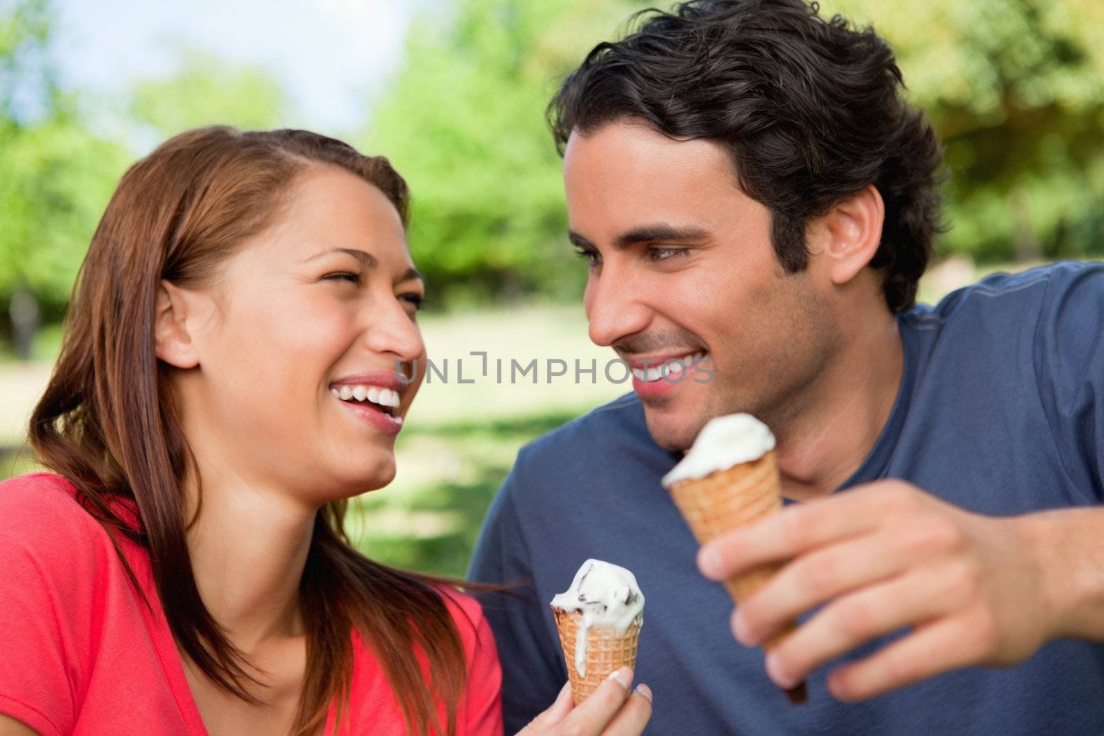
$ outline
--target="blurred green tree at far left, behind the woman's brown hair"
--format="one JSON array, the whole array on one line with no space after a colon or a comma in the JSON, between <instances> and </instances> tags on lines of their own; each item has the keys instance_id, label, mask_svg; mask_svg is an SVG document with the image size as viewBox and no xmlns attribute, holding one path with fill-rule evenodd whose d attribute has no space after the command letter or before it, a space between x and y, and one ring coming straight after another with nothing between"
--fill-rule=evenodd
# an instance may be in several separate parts
<instances>
[{"instance_id":1,"label":"blurred green tree at far left, behind the woman's brown hair","mask_svg":"<svg viewBox=\"0 0 1104 736\"><path fill-rule=\"evenodd\" d=\"M91 134L57 87L49 0L0 7L0 333L60 317L126 151Z\"/></svg>"}]
</instances>

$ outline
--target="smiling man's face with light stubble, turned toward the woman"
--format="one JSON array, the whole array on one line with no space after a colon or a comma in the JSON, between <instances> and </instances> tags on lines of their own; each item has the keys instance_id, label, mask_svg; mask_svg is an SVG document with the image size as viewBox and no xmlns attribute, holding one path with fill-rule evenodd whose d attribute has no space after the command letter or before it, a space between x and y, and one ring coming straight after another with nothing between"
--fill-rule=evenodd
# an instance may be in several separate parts
<instances>
[{"instance_id":1,"label":"smiling man's face with light stubble, turned toward the woman","mask_svg":"<svg viewBox=\"0 0 1104 736\"><path fill-rule=\"evenodd\" d=\"M732 412L777 428L802 410L832 345L827 295L815 269L783 271L723 149L609 124L572 134L564 181L591 340L633 366L659 445L687 449Z\"/></svg>"}]
</instances>

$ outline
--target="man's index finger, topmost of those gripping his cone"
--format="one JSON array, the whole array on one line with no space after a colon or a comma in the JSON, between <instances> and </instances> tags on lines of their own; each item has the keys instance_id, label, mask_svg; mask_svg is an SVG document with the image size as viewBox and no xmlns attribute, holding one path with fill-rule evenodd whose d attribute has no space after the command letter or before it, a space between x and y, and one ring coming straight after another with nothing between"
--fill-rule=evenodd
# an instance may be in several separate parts
<instances>
[{"instance_id":1,"label":"man's index finger, topmost of those gripping his cone","mask_svg":"<svg viewBox=\"0 0 1104 736\"><path fill-rule=\"evenodd\" d=\"M710 579L724 580L872 530L881 514L871 502L869 488L794 504L722 534L698 552L698 568Z\"/></svg>"}]
</instances>

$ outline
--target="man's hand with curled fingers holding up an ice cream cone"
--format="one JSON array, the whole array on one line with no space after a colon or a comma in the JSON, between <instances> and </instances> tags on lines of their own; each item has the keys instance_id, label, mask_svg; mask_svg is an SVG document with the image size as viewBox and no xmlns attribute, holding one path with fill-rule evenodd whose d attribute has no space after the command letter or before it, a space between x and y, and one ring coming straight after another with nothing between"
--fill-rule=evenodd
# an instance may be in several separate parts
<instances>
[{"instance_id":1,"label":"man's hand with curled fingers holding up an ice cream cone","mask_svg":"<svg viewBox=\"0 0 1104 736\"><path fill-rule=\"evenodd\" d=\"M975 664L1007 666L1058 636L1053 577L1020 518L969 513L902 481L879 481L795 504L721 536L699 553L723 580L789 561L733 614L745 644L827 605L772 649L783 687L878 637L911 631L830 673L842 701L858 701Z\"/></svg>"}]
</instances>

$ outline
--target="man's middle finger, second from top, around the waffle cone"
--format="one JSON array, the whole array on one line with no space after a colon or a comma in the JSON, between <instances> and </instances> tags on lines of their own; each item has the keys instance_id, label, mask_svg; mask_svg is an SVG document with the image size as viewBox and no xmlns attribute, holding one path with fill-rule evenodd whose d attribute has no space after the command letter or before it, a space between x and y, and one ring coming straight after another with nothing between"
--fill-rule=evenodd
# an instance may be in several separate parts
<instances>
[{"instance_id":1,"label":"man's middle finger, second from top, around the waffle cone","mask_svg":"<svg viewBox=\"0 0 1104 736\"><path fill-rule=\"evenodd\" d=\"M867 534L799 556L733 614L732 631L753 647L805 611L901 574L916 558L909 540Z\"/></svg>"}]
</instances>

